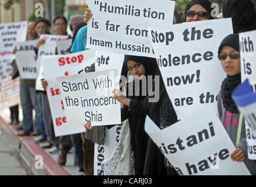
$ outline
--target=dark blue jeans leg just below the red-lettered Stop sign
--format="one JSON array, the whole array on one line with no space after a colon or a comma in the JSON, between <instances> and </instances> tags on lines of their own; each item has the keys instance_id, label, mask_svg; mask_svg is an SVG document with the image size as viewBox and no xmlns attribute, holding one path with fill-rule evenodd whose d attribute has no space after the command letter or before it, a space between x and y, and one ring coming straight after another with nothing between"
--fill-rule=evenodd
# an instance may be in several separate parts
<instances>
[{"instance_id":1,"label":"dark blue jeans leg just below the red-lettered Stop sign","mask_svg":"<svg viewBox=\"0 0 256 187\"><path fill-rule=\"evenodd\" d=\"M71 141L74 145L75 156L77 165L79 167L79 171L84 172L84 151L83 151L83 141L81 138L81 134L71 134Z\"/></svg>"}]
</instances>

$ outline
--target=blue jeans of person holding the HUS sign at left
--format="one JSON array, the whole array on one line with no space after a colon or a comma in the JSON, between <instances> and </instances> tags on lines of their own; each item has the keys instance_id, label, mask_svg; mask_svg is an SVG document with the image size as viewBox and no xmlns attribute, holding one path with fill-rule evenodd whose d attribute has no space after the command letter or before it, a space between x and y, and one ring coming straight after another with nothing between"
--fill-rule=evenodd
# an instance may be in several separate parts
<instances>
[{"instance_id":1,"label":"blue jeans of person holding the HUS sign at left","mask_svg":"<svg viewBox=\"0 0 256 187\"><path fill-rule=\"evenodd\" d=\"M35 87L26 86L23 79L20 82L20 92L21 92L21 107L23 114L23 122L22 127L25 132L31 133L33 130L40 131L39 123L38 123L38 115L39 108L37 105L36 98L36 89ZM35 108L36 119L35 119L35 127L33 128L33 108Z\"/></svg>"}]
</instances>

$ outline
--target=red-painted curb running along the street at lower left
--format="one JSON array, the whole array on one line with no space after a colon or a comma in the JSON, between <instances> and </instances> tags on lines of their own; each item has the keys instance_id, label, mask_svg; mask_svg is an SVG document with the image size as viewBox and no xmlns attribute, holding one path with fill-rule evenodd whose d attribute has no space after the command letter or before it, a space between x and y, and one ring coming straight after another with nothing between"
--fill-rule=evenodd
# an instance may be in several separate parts
<instances>
[{"instance_id":1,"label":"red-painted curb running along the street at lower left","mask_svg":"<svg viewBox=\"0 0 256 187\"><path fill-rule=\"evenodd\" d=\"M35 175L70 175L65 171L50 155L46 153L37 143L34 142L30 136L17 136L18 125L9 125L9 117L0 116L0 125L5 131L9 141L13 144L15 149L19 150L19 155L32 170ZM36 169L38 160L35 160L36 155L41 155L43 158L43 169Z\"/></svg>"}]
</instances>

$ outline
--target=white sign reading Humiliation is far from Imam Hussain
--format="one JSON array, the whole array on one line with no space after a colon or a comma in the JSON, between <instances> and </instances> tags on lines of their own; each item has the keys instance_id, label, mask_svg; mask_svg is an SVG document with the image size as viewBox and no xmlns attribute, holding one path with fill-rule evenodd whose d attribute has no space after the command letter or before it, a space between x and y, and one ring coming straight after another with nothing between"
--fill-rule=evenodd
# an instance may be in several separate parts
<instances>
[{"instance_id":1,"label":"white sign reading Humiliation is far from Imam Hussain","mask_svg":"<svg viewBox=\"0 0 256 187\"><path fill-rule=\"evenodd\" d=\"M88 49L154 57L148 26L172 25L175 1L88 1Z\"/></svg>"}]
</instances>

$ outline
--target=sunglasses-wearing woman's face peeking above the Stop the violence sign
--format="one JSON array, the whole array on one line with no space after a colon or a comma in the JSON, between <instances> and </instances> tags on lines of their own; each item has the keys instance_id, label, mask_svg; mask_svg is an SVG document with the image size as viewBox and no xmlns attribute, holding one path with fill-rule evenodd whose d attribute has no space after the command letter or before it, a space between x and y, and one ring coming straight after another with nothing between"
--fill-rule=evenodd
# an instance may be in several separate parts
<instances>
[{"instance_id":1,"label":"sunglasses-wearing woman's face peeking above the Stop the violence sign","mask_svg":"<svg viewBox=\"0 0 256 187\"><path fill-rule=\"evenodd\" d=\"M200 12L200 16L198 16L197 14L193 15L194 12L192 11L194 11L197 14ZM200 20L209 19L209 12L207 12L206 9L199 4L194 4L193 6L191 6L190 9L186 12L186 14L186 22L196 22Z\"/></svg>"}]
</instances>

